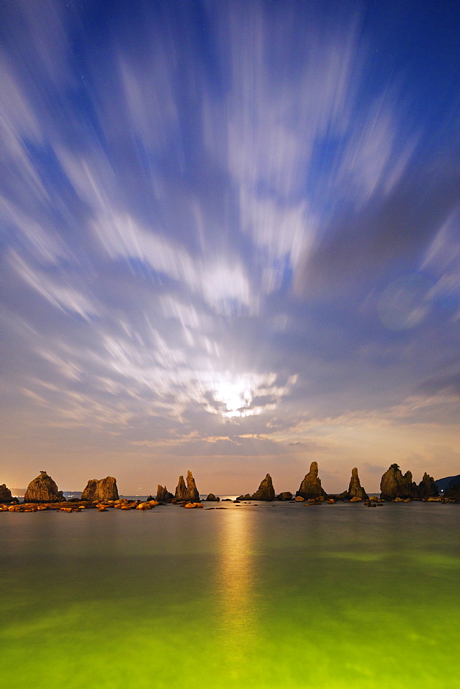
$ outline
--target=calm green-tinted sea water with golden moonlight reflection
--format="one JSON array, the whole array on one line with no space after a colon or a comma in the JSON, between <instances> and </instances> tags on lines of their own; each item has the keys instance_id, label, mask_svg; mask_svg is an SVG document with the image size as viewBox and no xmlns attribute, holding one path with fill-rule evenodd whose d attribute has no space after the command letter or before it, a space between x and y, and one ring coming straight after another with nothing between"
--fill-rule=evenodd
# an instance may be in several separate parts
<instances>
[{"instance_id":1,"label":"calm green-tinted sea water with golden moonlight reflection","mask_svg":"<svg viewBox=\"0 0 460 689\"><path fill-rule=\"evenodd\" d=\"M459 505L225 506L1 513L3 686L459 686Z\"/></svg>"}]
</instances>

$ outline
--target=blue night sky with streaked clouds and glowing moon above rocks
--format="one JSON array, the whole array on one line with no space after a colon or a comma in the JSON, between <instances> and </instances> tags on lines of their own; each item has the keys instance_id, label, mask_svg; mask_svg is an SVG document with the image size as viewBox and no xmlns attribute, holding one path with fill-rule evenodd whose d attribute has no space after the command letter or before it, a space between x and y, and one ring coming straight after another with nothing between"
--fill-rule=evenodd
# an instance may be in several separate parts
<instances>
[{"instance_id":1,"label":"blue night sky with streaked clouds and glowing moon above rocks","mask_svg":"<svg viewBox=\"0 0 460 689\"><path fill-rule=\"evenodd\" d=\"M0 483L459 473L458 26L3 0Z\"/></svg>"}]
</instances>

